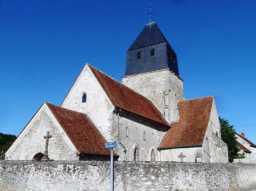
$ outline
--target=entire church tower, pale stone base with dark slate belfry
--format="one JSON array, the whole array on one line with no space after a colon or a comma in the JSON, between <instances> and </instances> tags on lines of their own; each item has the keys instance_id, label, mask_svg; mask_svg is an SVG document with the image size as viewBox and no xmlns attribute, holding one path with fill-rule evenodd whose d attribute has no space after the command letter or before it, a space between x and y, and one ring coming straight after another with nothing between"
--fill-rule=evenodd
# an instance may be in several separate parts
<instances>
[{"instance_id":1,"label":"entire church tower, pale stone base with dark slate belfry","mask_svg":"<svg viewBox=\"0 0 256 191\"><path fill-rule=\"evenodd\" d=\"M183 80L177 55L155 22L148 23L128 49L122 83L151 100L169 123L178 121Z\"/></svg>"}]
</instances>

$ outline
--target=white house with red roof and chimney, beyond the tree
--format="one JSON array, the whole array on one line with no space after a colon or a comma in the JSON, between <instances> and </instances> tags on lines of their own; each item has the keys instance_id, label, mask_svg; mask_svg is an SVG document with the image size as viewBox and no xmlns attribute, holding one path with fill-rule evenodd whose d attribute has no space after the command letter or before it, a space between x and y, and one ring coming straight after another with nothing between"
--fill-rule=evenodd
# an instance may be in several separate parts
<instances>
[{"instance_id":1,"label":"white house with red roof and chimney, beyond the tree","mask_svg":"<svg viewBox=\"0 0 256 191\"><path fill-rule=\"evenodd\" d=\"M241 152L244 152L245 158L256 158L256 145L245 138L244 132L236 133L236 138L237 146L241 148Z\"/></svg>"}]
</instances>

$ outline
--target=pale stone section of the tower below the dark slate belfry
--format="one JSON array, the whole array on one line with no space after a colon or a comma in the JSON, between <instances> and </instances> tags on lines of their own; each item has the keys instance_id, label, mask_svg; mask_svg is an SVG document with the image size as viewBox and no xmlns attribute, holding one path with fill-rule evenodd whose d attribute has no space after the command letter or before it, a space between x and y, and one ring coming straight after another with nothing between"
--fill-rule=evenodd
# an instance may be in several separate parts
<instances>
[{"instance_id":1,"label":"pale stone section of the tower below the dark slate belfry","mask_svg":"<svg viewBox=\"0 0 256 191\"><path fill-rule=\"evenodd\" d=\"M178 120L177 102L184 100L183 80L170 69L124 76L122 83L151 100L169 123Z\"/></svg>"}]
</instances>

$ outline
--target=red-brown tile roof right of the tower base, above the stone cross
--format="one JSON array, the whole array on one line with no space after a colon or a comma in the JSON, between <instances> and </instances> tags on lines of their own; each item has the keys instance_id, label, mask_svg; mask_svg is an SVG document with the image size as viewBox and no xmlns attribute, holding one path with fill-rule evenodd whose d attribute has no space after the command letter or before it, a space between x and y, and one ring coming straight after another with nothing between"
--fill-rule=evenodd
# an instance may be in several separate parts
<instances>
[{"instance_id":1,"label":"red-brown tile roof right of the tower base, above the stone cross","mask_svg":"<svg viewBox=\"0 0 256 191\"><path fill-rule=\"evenodd\" d=\"M202 145L212 104L213 96L178 102L179 121L171 123L159 148Z\"/></svg>"}]
</instances>

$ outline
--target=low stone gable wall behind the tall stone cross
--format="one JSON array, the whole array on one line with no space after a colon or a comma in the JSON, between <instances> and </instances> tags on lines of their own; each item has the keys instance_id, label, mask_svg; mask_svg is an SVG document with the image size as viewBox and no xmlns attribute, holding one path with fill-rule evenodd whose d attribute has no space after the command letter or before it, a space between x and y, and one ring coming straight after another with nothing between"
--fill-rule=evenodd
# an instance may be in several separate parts
<instances>
[{"instance_id":1,"label":"low stone gable wall behind the tall stone cross","mask_svg":"<svg viewBox=\"0 0 256 191\"><path fill-rule=\"evenodd\" d=\"M5 154L6 160L32 160L36 153L44 153L45 139L49 131L48 155L52 160L78 160L78 154L67 140L66 133L53 122L47 109L42 109L28 124ZM73 148L73 149L72 149ZM1 189L0 189L1 190Z\"/></svg>"}]
</instances>

